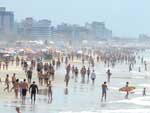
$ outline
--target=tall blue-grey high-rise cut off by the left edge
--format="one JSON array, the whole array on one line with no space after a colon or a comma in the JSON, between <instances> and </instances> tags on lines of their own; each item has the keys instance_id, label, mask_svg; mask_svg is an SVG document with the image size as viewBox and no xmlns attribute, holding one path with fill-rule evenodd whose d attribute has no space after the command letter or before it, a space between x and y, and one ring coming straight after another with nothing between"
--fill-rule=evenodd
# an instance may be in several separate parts
<instances>
[{"instance_id":1,"label":"tall blue-grey high-rise cut off by the left edge","mask_svg":"<svg viewBox=\"0 0 150 113\"><path fill-rule=\"evenodd\" d=\"M0 32L10 33L14 27L14 13L6 11L5 7L0 7Z\"/></svg>"}]
</instances>

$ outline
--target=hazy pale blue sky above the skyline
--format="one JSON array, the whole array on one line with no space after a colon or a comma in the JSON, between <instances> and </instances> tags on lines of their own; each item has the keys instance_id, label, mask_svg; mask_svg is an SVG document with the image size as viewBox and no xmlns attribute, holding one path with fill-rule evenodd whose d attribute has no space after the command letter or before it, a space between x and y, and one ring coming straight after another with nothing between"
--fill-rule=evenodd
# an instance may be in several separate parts
<instances>
[{"instance_id":1,"label":"hazy pale blue sky above the skyline","mask_svg":"<svg viewBox=\"0 0 150 113\"><path fill-rule=\"evenodd\" d=\"M104 21L115 36L150 35L150 0L0 0L0 6L14 11L15 20L47 18L53 25Z\"/></svg>"}]
</instances>

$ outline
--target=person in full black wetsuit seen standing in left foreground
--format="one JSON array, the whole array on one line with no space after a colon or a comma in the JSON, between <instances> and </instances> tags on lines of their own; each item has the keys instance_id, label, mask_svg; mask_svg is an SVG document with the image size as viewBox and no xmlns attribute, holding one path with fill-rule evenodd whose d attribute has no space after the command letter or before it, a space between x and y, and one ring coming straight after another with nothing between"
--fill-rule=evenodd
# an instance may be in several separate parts
<instances>
[{"instance_id":1,"label":"person in full black wetsuit seen standing in left foreground","mask_svg":"<svg viewBox=\"0 0 150 113\"><path fill-rule=\"evenodd\" d=\"M29 87L29 93L31 92L31 104L32 104L32 98L34 96L34 104L36 101L36 93L38 93L38 86L35 84L35 81L30 85Z\"/></svg>"}]
</instances>

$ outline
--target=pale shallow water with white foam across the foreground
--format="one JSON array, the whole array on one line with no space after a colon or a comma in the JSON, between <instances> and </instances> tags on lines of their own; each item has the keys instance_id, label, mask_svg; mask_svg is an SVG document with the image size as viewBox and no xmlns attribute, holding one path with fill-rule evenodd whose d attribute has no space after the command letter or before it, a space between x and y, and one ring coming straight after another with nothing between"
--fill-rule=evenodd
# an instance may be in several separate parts
<instances>
[{"instance_id":1,"label":"pale shallow water with white foam across the foreground","mask_svg":"<svg viewBox=\"0 0 150 113\"><path fill-rule=\"evenodd\" d=\"M144 53L148 59L147 53ZM150 57L149 57L150 58ZM81 67L81 64L76 64ZM1 101L0 113L15 113L15 107L20 106L22 113L150 113L150 73L149 70L138 72L135 66L132 72L128 71L128 65L119 64L112 68L111 82L108 84L108 98L106 102L100 101L101 84L106 80L106 67L96 64L97 78L95 85L81 84L80 78L75 83L70 80L69 87L64 85L53 87L53 101L48 104L47 96L38 95L35 105L30 104L30 98L22 105L20 100ZM148 69L150 69L148 65ZM60 76L64 76L64 68L59 70ZM136 86L135 93L124 99L124 93L118 89L129 81ZM147 96L142 97L143 87L147 87Z\"/></svg>"}]
</instances>

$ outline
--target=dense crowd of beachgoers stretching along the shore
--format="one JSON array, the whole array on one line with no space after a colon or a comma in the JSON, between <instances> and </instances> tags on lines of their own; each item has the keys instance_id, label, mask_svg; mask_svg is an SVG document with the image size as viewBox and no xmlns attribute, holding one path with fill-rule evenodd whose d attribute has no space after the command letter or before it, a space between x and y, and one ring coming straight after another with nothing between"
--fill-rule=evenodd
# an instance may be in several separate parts
<instances>
[{"instance_id":1,"label":"dense crowd of beachgoers stretching along the shore","mask_svg":"<svg viewBox=\"0 0 150 113\"><path fill-rule=\"evenodd\" d=\"M75 83L95 85L95 80L97 74L95 70L95 64L102 64L107 67L106 80L100 85L102 89L101 101L107 99L107 83L111 82L111 76L113 73L110 68L114 68L117 64L126 64L129 66L129 71L132 71L134 65L137 63L137 53L139 49L133 48L105 48L96 50L86 50L86 54L77 54L75 52L70 52L68 54L62 54L55 56L49 61L37 61L35 58L27 60L26 56L16 56L12 59L6 58L0 62L0 70L9 70L11 65L16 65L16 67L21 67L24 71L24 79L20 80L19 76L16 77L16 73L13 73L11 80L10 75L7 74L5 77L4 91L15 93L15 98L18 99L19 96L22 99L22 104L26 103L27 92L31 96L31 104L36 102L36 94L39 93L39 89L42 87L46 88L48 103L53 100L53 81L56 80L56 72L59 71L63 66L64 70L64 82L65 87L69 87L69 81L72 80ZM144 69L147 70L147 63L144 61L143 57L138 57L138 60L144 65ZM75 61L81 61L81 68ZM3 68L1 68L1 66ZM139 68L139 72L141 68ZM37 73L35 75L34 73ZM37 78L33 80L33 76ZM0 78L2 83L2 79ZM12 87L10 87L12 86ZM129 87L129 82L126 82L125 87ZM126 91L125 98L128 98L129 91ZM143 96L146 96L146 88L143 89ZM16 108L18 113L19 108Z\"/></svg>"}]
</instances>

